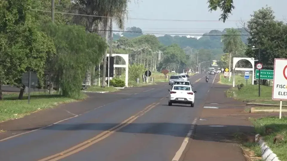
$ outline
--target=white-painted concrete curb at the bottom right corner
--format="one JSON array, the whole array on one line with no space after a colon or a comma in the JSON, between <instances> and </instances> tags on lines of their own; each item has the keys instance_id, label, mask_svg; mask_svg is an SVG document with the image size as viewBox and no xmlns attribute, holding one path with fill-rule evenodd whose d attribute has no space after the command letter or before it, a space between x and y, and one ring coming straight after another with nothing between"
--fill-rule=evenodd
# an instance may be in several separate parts
<instances>
[{"instance_id":1,"label":"white-painted concrete curb at the bottom right corner","mask_svg":"<svg viewBox=\"0 0 287 161\"><path fill-rule=\"evenodd\" d=\"M261 149L261 157L264 161L280 161L276 154L266 145L260 134L255 135L255 141L258 142Z\"/></svg>"}]
</instances>

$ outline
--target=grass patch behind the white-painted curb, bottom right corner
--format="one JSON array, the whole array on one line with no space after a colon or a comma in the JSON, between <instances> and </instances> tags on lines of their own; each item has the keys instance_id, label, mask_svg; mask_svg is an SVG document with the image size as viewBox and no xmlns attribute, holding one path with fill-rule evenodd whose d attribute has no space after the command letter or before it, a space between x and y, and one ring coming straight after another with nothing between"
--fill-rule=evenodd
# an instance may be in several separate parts
<instances>
[{"instance_id":1,"label":"grass patch behind the white-painted curb, bottom right corner","mask_svg":"<svg viewBox=\"0 0 287 161\"><path fill-rule=\"evenodd\" d=\"M264 137L265 142L277 155L279 160L287 160L287 117L263 117L252 119L252 123L257 133ZM272 129L271 134L265 133L265 128ZM273 144L273 139L278 134L283 135L284 140Z\"/></svg>"}]
</instances>

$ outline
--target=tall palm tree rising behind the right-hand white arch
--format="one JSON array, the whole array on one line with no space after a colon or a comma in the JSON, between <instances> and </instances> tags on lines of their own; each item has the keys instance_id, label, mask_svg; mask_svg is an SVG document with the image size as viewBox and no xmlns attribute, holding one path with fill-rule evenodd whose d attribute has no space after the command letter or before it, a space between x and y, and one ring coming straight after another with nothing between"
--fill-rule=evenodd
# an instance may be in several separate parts
<instances>
[{"instance_id":1,"label":"tall palm tree rising behind the right-hand white arch","mask_svg":"<svg viewBox=\"0 0 287 161\"><path fill-rule=\"evenodd\" d=\"M231 55L238 52L244 46L240 36L240 31L234 28L227 29L226 33L222 35L221 40L224 44L223 51L229 53L229 75L231 67ZM233 71L234 72L234 71Z\"/></svg>"}]
</instances>

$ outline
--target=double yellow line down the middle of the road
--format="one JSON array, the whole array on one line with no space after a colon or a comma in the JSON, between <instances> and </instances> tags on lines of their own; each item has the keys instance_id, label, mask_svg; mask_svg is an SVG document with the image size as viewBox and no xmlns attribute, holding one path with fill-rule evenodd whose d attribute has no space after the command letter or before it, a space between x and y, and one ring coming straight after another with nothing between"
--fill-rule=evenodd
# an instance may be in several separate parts
<instances>
[{"instance_id":1,"label":"double yellow line down the middle of the road","mask_svg":"<svg viewBox=\"0 0 287 161\"><path fill-rule=\"evenodd\" d=\"M164 97L165 98L165 97ZM160 100L164 99L161 98ZM141 117L142 115L144 115L146 112L149 112L152 108L154 108L155 106L159 105L158 103L152 103L151 105L147 106L145 109L143 109L142 111L136 113L135 115L129 117L128 119L124 120L123 122L119 123L117 126L103 131L102 133L98 134L97 136L84 141L83 143L80 143L78 145L75 145L67 150L61 151L60 153L51 155L49 157L43 158L39 161L56 161L56 160L60 160L62 158L68 157L72 154L75 154L85 148L88 148L89 146L99 142L100 140L105 139L106 137L112 135L113 133L115 133L116 131L122 129L125 126L128 126L130 123L132 123L133 121L135 121L138 117Z\"/></svg>"}]
</instances>

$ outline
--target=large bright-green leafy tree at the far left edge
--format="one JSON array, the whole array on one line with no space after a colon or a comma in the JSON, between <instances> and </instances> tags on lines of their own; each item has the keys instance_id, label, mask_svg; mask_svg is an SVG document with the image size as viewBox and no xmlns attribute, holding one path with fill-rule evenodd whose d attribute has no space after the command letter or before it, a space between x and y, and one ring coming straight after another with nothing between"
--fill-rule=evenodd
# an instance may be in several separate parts
<instances>
[{"instance_id":1,"label":"large bright-green leafy tree at the far left edge","mask_svg":"<svg viewBox=\"0 0 287 161\"><path fill-rule=\"evenodd\" d=\"M0 2L0 86L21 83L22 74L27 71L42 75L48 53L54 52L52 40L33 25L30 6L31 0Z\"/></svg>"}]
</instances>

